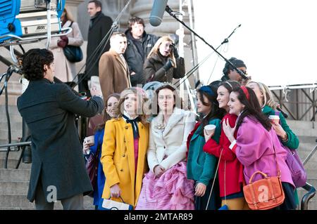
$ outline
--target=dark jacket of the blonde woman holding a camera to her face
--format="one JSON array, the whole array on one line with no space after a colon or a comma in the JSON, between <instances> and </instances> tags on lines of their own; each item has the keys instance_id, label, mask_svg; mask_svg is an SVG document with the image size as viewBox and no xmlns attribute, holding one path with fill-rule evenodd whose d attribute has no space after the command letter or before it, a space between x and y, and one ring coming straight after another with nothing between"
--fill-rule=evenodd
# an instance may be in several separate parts
<instances>
[{"instance_id":1,"label":"dark jacket of the blonde woman holding a camera to her face","mask_svg":"<svg viewBox=\"0 0 317 224\"><path fill-rule=\"evenodd\" d=\"M168 71L163 70L167 58L161 54L154 53L144 62L143 74L147 82L149 81L168 81L172 83L174 79L180 79L185 75L184 58L176 58L176 68L171 67Z\"/></svg>"}]
</instances>

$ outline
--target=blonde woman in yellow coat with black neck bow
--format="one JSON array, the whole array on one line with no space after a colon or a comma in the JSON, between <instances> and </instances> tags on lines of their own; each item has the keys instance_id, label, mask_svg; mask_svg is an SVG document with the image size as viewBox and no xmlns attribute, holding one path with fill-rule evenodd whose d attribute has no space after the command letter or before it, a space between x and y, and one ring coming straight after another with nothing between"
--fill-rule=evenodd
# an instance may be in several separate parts
<instances>
[{"instance_id":1,"label":"blonde woman in yellow coat with black neck bow","mask_svg":"<svg viewBox=\"0 0 317 224\"><path fill-rule=\"evenodd\" d=\"M135 206L147 171L148 99L141 88L126 88L120 95L116 119L106 122L101 164L106 176L102 198Z\"/></svg>"}]
</instances>

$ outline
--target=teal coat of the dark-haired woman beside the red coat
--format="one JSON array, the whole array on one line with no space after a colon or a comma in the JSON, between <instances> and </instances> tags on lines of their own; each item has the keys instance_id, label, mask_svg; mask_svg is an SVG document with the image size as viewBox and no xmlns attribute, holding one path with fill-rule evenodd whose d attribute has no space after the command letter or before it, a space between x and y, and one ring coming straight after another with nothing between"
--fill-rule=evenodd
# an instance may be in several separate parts
<instances>
[{"instance_id":1,"label":"teal coat of the dark-haired woman beside the red coat","mask_svg":"<svg viewBox=\"0 0 317 224\"><path fill-rule=\"evenodd\" d=\"M216 125L216 131L213 135L213 140L219 143L221 125L220 119L212 119L209 124ZM187 179L197 180L199 183L208 185L209 181L215 177L217 159L212 154L206 153L203 150L205 138L200 136L201 125L197 128L189 142L189 150L187 157Z\"/></svg>"}]
</instances>

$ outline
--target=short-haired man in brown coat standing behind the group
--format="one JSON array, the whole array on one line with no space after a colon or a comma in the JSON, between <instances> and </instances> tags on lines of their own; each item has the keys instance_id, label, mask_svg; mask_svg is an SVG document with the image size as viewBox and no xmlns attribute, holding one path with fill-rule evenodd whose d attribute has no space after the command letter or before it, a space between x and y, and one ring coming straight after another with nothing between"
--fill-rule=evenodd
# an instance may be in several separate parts
<instances>
[{"instance_id":1,"label":"short-haired man in brown coat standing behind the group","mask_svg":"<svg viewBox=\"0 0 317 224\"><path fill-rule=\"evenodd\" d=\"M121 93L131 87L128 64L123 58L127 48L125 34L116 32L110 38L110 50L99 60L99 81L104 100L111 93Z\"/></svg>"}]
</instances>

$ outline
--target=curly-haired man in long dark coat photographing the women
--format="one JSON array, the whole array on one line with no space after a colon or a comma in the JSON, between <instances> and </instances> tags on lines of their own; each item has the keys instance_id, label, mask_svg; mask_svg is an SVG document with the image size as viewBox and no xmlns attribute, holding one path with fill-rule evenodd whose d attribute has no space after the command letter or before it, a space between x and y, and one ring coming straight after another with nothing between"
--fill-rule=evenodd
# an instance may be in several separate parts
<instances>
[{"instance_id":1,"label":"curly-haired man in long dark coat photographing the women","mask_svg":"<svg viewBox=\"0 0 317 224\"><path fill-rule=\"evenodd\" d=\"M27 199L36 209L83 209L83 195L92 191L82 156L75 114L93 117L101 113L101 92L92 90L82 100L66 84L54 84L54 56L46 49L23 55L23 73L30 81L18 98L18 110L30 129L32 169Z\"/></svg>"}]
</instances>

